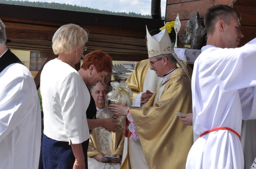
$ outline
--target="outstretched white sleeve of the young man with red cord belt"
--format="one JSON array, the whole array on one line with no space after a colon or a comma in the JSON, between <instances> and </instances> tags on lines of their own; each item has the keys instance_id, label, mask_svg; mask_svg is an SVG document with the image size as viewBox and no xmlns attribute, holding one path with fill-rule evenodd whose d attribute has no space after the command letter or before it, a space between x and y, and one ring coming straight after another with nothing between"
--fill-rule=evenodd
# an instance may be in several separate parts
<instances>
[{"instance_id":1,"label":"outstretched white sleeve of the young man with red cord belt","mask_svg":"<svg viewBox=\"0 0 256 169\"><path fill-rule=\"evenodd\" d=\"M211 65L215 68L212 76L224 91L256 86L256 38L241 48L212 51L216 55L216 62Z\"/></svg>"}]
</instances>

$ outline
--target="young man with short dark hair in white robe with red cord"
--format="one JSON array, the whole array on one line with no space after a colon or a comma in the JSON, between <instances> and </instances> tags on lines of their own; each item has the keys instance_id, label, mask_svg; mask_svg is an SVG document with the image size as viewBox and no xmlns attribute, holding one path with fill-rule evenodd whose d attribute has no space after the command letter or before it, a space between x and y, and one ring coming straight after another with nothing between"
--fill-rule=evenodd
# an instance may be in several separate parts
<instances>
[{"instance_id":1,"label":"young man with short dark hair in white robe with red cord","mask_svg":"<svg viewBox=\"0 0 256 169\"><path fill-rule=\"evenodd\" d=\"M256 39L237 48L240 14L226 5L210 7L204 25L207 45L192 74L193 130L200 137L186 169L243 169L242 119L256 118Z\"/></svg>"}]
</instances>

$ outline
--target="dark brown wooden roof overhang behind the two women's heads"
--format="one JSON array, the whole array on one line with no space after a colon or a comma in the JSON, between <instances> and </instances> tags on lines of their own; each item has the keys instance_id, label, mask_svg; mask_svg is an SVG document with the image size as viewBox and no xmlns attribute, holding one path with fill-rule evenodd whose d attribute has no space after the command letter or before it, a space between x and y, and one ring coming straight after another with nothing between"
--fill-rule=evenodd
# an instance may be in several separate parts
<instances>
[{"instance_id":1,"label":"dark brown wooden roof overhang behind the two women's heads","mask_svg":"<svg viewBox=\"0 0 256 169\"><path fill-rule=\"evenodd\" d=\"M40 57L47 58L45 63L56 57L52 51L52 37L64 24L78 24L89 30L88 49L84 54L103 50L117 61L147 59L146 25L149 29L158 29L164 24L163 20L156 19L19 5L0 4L0 9L0 19L6 26L7 47L39 51ZM75 69L80 69L80 64L76 64ZM41 70L34 78L37 89ZM110 80L108 76L106 81Z\"/></svg>"}]
</instances>

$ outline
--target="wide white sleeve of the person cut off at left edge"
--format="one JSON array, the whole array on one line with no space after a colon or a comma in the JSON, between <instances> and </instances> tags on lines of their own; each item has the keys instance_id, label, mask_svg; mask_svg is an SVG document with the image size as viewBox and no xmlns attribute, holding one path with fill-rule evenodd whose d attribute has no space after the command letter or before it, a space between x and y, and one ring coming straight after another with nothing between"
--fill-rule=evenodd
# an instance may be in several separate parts
<instances>
[{"instance_id":1,"label":"wide white sleeve of the person cut off at left edge","mask_svg":"<svg viewBox=\"0 0 256 169\"><path fill-rule=\"evenodd\" d=\"M0 142L38 104L33 77L21 64L11 64L0 73ZM34 112L37 113L37 112Z\"/></svg>"}]
</instances>

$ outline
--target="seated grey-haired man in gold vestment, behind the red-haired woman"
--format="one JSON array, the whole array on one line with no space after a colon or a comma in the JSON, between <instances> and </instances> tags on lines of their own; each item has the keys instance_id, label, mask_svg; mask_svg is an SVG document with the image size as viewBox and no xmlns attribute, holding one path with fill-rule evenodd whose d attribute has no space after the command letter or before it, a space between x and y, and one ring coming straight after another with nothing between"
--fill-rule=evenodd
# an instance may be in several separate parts
<instances>
[{"instance_id":1,"label":"seated grey-haired man in gold vestment, behind the red-haired woman","mask_svg":"<svg viewBox=\"0 0 256 169\"><path fill-rule=\"evenodd\" d=\"M109 92L109 86L105 83L97 83L92 86L91 94L97 108L97 119L108 118L105 111L105 98ZM125 136L122 132L109 132L103 127L92 129L88 147L89 169L120 169L124 149ZM115 156L116 158L105 157Z\"/></svg>"}]
</instances>

